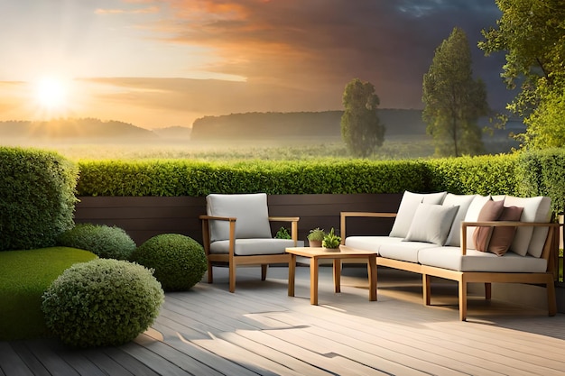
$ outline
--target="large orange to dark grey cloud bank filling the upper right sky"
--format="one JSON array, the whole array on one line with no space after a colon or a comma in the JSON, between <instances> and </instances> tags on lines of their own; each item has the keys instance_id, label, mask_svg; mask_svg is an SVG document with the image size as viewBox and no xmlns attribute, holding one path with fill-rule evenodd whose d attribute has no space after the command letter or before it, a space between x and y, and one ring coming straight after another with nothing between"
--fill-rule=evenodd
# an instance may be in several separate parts
<instances>
[{"instance_id":1,"label":"large orange to dark grey cloud bank filling the upper right sky","mask_svg":"<svg viewBox=\"0 0 565 376\"><path fill-rule=\"evenodd\" d=\"M155 30L168 41L211 48L217 59L202 70L250 83L339 92L361 78L375 85L384 106L419 107L422 75L455 26L468 33L478 75L497 78L493 69L500 67L482 61L476 48L480 30L499 15L492 0L181 0L168 6L171 18Z\"/></svg>"}]
</instances>

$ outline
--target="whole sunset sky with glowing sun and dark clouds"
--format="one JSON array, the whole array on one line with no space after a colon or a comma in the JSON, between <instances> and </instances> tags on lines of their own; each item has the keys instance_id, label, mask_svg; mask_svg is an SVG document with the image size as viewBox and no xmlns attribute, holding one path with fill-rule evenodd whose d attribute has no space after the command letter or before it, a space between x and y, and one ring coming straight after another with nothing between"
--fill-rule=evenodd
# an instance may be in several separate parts
<instances>
[{"instance_id":1,"label":"whole sunset sky with glowing sun and dark clouds","mask_svg":"<svg viewBox=\"0 0 565 376\"><path fill-rule=\"evenodd\" d=\"M0 0L0 121L96 117L145 128L203 115L342 109L352 78L422 108L435 48L463 28L489 102L504 56L477 49L494 0Z\"/></svg>"}]
</instances>

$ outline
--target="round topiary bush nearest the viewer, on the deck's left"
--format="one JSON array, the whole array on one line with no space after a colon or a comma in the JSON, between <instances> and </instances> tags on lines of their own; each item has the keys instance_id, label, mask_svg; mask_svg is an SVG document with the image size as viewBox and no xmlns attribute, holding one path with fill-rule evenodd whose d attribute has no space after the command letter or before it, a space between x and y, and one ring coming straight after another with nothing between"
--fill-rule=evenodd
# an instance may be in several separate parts
<instances>
[{"instance_id":1,"label":"round topiary bush nearest the viewer, on the deck's left","mask_svg":"<svg viewBox=\"0 0 565 376\"><path fill-rule=\"evenodd\" d=\"M153 324L164 301L151 271L129 261L97 259L64 271L42 295L47 327L64 344L125 344Z\"/></svg>"}]
</instances>

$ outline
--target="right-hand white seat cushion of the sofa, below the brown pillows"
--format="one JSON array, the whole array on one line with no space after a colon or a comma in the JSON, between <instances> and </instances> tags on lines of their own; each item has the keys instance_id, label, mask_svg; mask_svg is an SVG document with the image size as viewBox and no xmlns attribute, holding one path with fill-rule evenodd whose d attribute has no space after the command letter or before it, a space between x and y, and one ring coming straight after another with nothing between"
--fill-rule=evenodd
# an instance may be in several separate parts
<instances>
[{"instance_id":1,"label":"right-hand white seat cushion of the sofa, below the brown pillows","mask_svg":"<svg viewBox=\"0 0 565 376\"><path fill-rule=\"evenodd\" d=\"M492 271L492 272L544 272L547 261L532 256L520 256L506 252L504 256L495 253L467 250L461 254L459 247L435 247L418 252L422 265L435 266L452 271Z\"/></svg>"}]
</instances>

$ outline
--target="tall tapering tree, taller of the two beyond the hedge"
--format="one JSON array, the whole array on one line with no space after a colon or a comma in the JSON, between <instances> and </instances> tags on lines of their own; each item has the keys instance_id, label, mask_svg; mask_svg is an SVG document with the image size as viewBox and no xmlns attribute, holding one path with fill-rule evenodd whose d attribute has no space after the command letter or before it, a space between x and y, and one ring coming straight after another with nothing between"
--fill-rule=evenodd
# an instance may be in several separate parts
<instances>
[{"instance_id":1,"label":"tall tapering tree, taller of the two beyond the hedge","mask_svg":"<svg viewBox=\"0 0 565 376\"><path fill-rule=\"evenodd\" d=\"M423 77L422 119L433 136L436 155L476 155L484 151L479 116L489 112L486 88L473 78L467 35L453 29L436 49Z\"/></svg>"}]
</instances>

